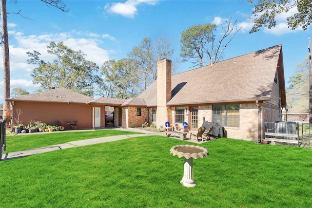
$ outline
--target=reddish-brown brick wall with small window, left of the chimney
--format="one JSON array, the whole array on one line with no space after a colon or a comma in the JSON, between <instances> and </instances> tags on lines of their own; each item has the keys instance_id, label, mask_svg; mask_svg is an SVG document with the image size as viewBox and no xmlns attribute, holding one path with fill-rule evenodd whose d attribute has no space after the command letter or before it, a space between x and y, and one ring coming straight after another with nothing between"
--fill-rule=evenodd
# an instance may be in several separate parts
<instances>
[{"instance_id":1,"label":"reddish-brown brick wall with small window, left of the chimney","mask_svg":"<svg viewBox=\"0 0 312 208\"><path fill-rule=\"evenodd\" d=\"M126 112L128 118L128 124L126 128L141 127L142 124L147 121L147 108L141 107L141 116L137 116L137 107L128 107Z\"/></svg>"}]
</instances>

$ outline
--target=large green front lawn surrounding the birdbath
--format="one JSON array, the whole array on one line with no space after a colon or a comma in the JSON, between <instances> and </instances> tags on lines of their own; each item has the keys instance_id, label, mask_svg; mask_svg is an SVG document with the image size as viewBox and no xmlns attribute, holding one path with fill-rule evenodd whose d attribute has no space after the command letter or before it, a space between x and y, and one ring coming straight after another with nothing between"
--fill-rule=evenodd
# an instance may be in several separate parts
<instances>
[{"instance_id":1,"label":"large green front lawn surrounding the birdbath","mask_svg":"<svg viewBox=\"0 0 312 208\"><path fill-rule=\"evenodd\" d=\"M142 136L0 162L0 207L312 207L312 150L221 138L200 146L194 188L179 182L189 142ZM196 144L195 144L196 145Z\"/></svg>"}]
</instances>

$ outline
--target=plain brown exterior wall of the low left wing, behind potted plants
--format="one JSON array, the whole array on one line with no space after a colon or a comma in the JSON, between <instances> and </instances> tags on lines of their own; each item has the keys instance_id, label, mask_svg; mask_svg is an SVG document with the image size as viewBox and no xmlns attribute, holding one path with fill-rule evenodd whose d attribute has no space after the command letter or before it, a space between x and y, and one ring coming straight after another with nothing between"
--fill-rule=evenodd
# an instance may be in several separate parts
<instances>
[{"instance_id":1,"label":"plain brown exterior wall of the low left wing, behind potted plants","mask_svg":"<svg viewBox=\"0 0 312 208\"><path fill-rule=\"evenodd\" d=\"M44 103L44 102L14 102L13 121L17 118L19 109L20 123L28 125L31 120L47 124L56 124L59 120L67 129L67 122L78 121L77 129L92 128L93 106L76 103Z\"/></svg>"}]
</instances>

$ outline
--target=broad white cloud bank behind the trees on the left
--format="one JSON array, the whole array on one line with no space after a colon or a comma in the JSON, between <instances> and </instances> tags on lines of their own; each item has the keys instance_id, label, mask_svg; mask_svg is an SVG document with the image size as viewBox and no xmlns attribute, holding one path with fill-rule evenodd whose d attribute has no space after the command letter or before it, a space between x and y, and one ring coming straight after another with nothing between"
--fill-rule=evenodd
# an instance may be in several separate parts
<instances>
[{"instance_id":1,"label":"broad white cloud bank behind the trees on the left","mask_svg":"<svg viewBox=\"0 0 312 208\"><path fill-rule=\"evenodd\" d=\"M12 32L11 44L9 46L11 89L21 87L30 93L35 91L38 86L32 84L33 78L31 77L31 73L36 66L27 63L29 57L26 52L33 52L36 50L41 54L39 56L40 59L46 62L52 62L56 57L47 52L47 45L49 45L51 41L63 41L64 45L67 47L75 51L81 50L86 54L87 60L95 62L99 67L105 61L109 60L109 54L114 53L113 50L105 50L101 48L100 45L103 43L104 39L106 39L106 41L115 39L110 35L79 32L80 36L77 37L77 33L78 32L25 36L21 32ZM103 38L103 40L101 38ZM109 40L107 40L107 38ZM0 60L3 60L2 53L0 54ZM3 86L3 81L1 85Z\"/></svg>"}]
</instances>

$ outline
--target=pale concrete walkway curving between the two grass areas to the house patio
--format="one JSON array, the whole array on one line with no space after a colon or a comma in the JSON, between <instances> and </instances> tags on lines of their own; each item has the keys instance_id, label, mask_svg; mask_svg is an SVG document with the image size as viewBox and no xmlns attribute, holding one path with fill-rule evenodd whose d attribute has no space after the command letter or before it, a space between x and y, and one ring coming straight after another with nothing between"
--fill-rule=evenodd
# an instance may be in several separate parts
<instances>
[{"instance_id":1,"label":"pale concrete walkway curving between the two grass areas to the house patio","mask_svg":"<svg viewBox=\"0 0 312 208\"><path fill-rule=\"evenodd\" d=\"M35 149L31 149L31 150L9 152L9 153L2 154L1 160L16 159L16 158L26 157L26 156L29 156L29 155L39 154L39 153L48 152L48 151L56 151L56 150L73 148L73 147L80 147L80 146L86 146L86 145L99 144L99 143L104 143L104 142L113 142L113 141L118 141L118 140L122 140L122 139L128 139L128 138L131 138L131 137L147 136L147 135L149 135L149 136L152 136L152 135L158 135L158 136L163 135L161 132L150 132L150 131L145 131L145 130L140 130L140 129L116 128L114 130L130 131L130 132L140 132L140 133L144 133L144 134L128 134L128 135L100 137L100 138L94 138L94 139L84 139L84 140L79 140L79 141L67 142L67 143L64 143L64 144L58 144L58 145L51 145L51 146L47 146L47 147L35 148ZM77 130L77 131L92 131L92 130ZM71 132L71 131L68 131L68 132ZM170 138L175 138L175 139L181 140L180 138L177 138L177 137L170 137ZM188 139L186 141L197 143L195 139ZM200 144L200 143L203 143L203 142L198 142L197 144Z\"/></svg>"}]
</instances>

